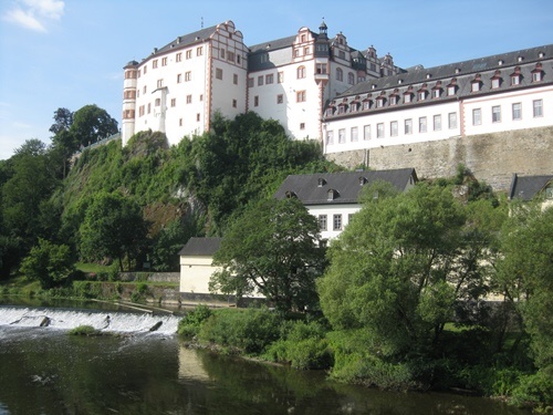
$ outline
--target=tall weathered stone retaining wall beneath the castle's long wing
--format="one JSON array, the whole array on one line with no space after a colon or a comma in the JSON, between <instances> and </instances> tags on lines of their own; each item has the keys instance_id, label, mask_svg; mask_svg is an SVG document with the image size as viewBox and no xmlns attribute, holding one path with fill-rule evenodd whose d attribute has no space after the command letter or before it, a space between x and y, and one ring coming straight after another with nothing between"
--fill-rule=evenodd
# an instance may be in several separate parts
<instances>
[{"instance_id":1,"label":"tall weathered stone retaining wall beneath the castle's long wing","mask_svg":"<svg viewBox=\"0 0 553 415\"><path fill-rule=\"evenodd\" d=\"M553 127L456 137L436 142L328 154L337 164L355 168L368 159L371 169L415 167L420 178L451 177L459 163L494 190L509 190L513 173L553 173Z\"/></svg>"}]
</instances>

